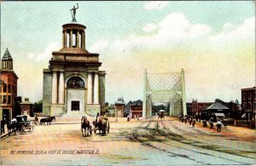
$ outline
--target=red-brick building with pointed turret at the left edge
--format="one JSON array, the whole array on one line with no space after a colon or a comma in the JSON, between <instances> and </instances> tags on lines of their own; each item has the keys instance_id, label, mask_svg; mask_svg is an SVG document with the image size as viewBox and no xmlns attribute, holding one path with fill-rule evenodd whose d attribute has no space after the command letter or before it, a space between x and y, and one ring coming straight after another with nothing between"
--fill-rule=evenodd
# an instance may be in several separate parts
<instances>
[{"instance_id":1,"label":"red-brick building with pointed turret at the left edge","mask_svg":"<svg viewBox=\"0 0 256 166\"><path fill-rule=\"evenodd\" d=\"M2 58L1 66L1 118L11 119L16 116L15 113L15 97L17 96L17 83L19 77L13 70L13 59L6 49Z\"/></svg>"}]
</instances>

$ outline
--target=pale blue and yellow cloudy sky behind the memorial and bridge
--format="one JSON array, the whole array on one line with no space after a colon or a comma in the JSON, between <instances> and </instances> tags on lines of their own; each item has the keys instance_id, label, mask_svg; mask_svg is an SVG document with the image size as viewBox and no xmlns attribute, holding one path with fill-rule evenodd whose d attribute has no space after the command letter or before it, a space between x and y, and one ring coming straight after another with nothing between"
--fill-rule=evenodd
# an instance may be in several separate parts
<instances>
[{"instance_id":1,"label":"pale blue and yellow cloudy sky behind the memorial and bridge","mask_svg":"<svg viewBox=\"0 0 256 166\"><path fill-rule=\"evenodd\" d=\"M23 99L43 99L43 69L76 3L85 48L107 72L109 103L143 100L145 69L183 68L187 102L241 102L241 89L255 86L253 1L1 2L1 57L8 48Z\"/></svg>"}]
</instances>

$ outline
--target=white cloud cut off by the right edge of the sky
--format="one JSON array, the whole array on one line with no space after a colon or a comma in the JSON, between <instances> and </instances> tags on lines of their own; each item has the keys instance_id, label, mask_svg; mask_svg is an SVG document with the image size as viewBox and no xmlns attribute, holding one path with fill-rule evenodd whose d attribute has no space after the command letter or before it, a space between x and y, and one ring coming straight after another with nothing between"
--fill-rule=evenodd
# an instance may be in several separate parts
<instances>
[{"instance_id":1,"label":"white cloud cut off by the right edge of the sky","mask_svg":"<svg viewBox=\"0 0 256 166\"><path fill-rule=\"evenodd\" d=\"M223 30L216 36L210 37L212 41L247 40L255 39L255 17L244 20L241 26L232 26L225 23Z\"/></svg>"}]
</instances>

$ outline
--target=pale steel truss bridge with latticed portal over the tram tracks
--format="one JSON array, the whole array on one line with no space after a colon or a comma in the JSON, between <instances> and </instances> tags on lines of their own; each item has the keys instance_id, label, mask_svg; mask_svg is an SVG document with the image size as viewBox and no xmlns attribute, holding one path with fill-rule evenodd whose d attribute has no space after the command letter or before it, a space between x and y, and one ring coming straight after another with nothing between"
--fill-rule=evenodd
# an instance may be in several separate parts
<instances>
[{"instance_id":1,"label":"pale steel truss bridge with latticed portal over the tram tracks","mask_svg":"<svg viewBox=\"0 0 256 166\"><path fill-rule=\"evenodd\" d=\"M152 116L155 103L169 105L172 116L187 115L184 71L144 72L143 117Z\"/></svg>"}]
</instances>

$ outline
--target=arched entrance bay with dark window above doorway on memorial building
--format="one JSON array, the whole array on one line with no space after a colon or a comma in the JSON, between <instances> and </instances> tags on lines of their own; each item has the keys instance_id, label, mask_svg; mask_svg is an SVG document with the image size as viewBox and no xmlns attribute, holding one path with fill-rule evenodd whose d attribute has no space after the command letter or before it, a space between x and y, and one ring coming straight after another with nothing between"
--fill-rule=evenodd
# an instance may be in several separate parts
<instances>
[{"instance_id":1,"label":"arched entrance bay with dark window above doorway on memorial building","mask_svg":"<svg viewBox=\"0 0 256 166\"><path fill-rule=\"evenodd\" d=\"M85 80L80 76L72 76L67 78L67 112L85 110Z\"/></svg>"}]
</instances>

